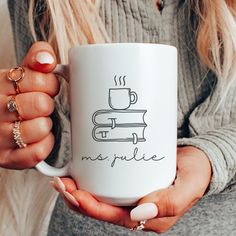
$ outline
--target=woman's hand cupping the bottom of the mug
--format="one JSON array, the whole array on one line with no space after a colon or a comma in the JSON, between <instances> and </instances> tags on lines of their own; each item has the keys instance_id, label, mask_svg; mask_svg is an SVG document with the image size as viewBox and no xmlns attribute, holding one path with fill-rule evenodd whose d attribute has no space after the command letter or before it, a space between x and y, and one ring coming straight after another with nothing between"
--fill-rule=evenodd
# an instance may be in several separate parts
<instances>
[{"instance_id":1,"label":"woman's hand cupping the bottom of the mug","mask_svg":"<svg viewBox=\"0 0 236 236\"><path fill-rule=\"evenodd\" d=\"M132 211L99 202L88 192L77 189L70 178L55 177L52 184L75 211L127 228L147 220L144 230L161 233L171 228L204 195L210 179L207 156L189 146L177 149L177 176L173 185L145 196Z\"/></svg>"}]
</instances>

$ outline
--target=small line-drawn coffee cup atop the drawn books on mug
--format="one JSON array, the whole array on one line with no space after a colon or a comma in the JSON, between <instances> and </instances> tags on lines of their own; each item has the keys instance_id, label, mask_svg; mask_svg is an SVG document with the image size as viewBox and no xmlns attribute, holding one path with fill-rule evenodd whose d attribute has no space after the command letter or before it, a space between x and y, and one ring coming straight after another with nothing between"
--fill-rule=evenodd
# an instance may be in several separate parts
<instances>
[{"instance_id":1,"label":"small line-drawn coffee cup atop the drawn books on mug","mask_svg":"<svg viewBox=\"0 0 236 236\"><path fill-rule=\"evenodd\" d=\"M138 101L138 95L130 88L110 88L108 100L113 110L126 110Z\"/></svg>"}]
</instances>

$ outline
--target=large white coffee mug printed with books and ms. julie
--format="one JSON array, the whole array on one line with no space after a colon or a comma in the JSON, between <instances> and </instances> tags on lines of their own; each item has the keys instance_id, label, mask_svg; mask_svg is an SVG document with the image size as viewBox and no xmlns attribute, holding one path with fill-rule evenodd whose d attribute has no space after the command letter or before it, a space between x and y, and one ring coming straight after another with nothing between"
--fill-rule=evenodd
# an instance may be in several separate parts
<instances>
[{"instance_id":1,"label":"large white coffee mug printed with books and ms. julie","mask_svg":"<svg viewBox=\"0 0 236 236\"><path fill-rule=\"evenodd\" d=\"M67 68L72 159L63 168L45 162L36 168L48 176L71 176L80 189L117 206L135 205L170 186L176 175L176 48L75 46L69 66L55 73Z\"/></svg>"}]
</instances>

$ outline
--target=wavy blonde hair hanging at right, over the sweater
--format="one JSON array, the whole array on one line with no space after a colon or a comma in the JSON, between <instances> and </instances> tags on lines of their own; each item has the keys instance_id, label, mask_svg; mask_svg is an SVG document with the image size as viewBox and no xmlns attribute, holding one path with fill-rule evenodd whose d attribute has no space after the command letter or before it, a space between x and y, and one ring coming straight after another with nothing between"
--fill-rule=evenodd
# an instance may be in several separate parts
<instances>
[{"instance_id":1,"label":"wavy blonde hair hanging at right, over the sweater","mask_svg":"<svg viewBox=\"0 0 236 236\"><path fill-rule=\"evenodd\" d=\"M232 81L236 76L235 0L191 1L199 19L197 49L202 62L220 82Z\"/></svg>"}]
</instances>

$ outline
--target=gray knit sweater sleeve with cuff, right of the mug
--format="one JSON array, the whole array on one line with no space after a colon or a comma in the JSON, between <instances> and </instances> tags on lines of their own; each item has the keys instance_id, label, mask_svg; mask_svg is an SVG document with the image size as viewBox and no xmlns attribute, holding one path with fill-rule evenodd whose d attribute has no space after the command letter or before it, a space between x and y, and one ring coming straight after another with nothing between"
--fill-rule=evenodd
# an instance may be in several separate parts
<instances>
[{"instance_id":1,"label":"gray knit sweater sleeve with cuff, right of the mug","mask_svg":"<svg viewBox=\"0 0 236 236\"><path fill-rule=\"evenodd\" d=\"M236 82L218 82L209 97L189 117L189 138L178 146L194 146L208 156L212 179L207 194L219 193L236 175Z\"/></svg>"}]
</instances>

